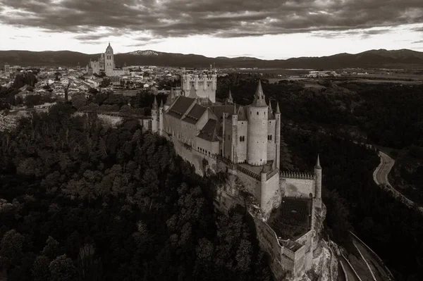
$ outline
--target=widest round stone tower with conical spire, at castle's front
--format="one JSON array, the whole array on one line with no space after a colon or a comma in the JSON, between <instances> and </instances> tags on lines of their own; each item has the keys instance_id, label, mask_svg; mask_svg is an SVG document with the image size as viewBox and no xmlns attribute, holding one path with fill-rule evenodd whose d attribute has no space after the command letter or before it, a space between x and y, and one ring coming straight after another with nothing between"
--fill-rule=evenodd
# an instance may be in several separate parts
<instances>
[{"instance_id":1,"label":"widest round stone tower with conical spire, at castle's front","mask_svg":"<svg viewBox=\"0 0 423 281\"><path fill-rule=\"evenodd\" d=\"M262 82L260 81L247 115L247 162L253 166L262 166L267 163L268 107L264 100Z\"/></svg>"}]
</instances>

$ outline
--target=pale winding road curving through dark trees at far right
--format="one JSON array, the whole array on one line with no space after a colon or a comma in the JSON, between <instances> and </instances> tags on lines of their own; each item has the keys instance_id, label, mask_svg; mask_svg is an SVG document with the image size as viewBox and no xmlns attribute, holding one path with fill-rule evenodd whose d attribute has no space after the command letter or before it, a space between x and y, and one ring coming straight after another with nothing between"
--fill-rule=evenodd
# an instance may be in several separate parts
<instances>
[{"instance_id":1,"label":"pale winding road curving through dark trees at far right","mask_svg":"<svg viewBox=\"0 0 423 281\"><path fill-rule=\"evenodd\" d=\"M382 151L379 151L379 157L381 158L381 163L379 164L379 166L377 166L376 170L374 170L373 173L373 179L374 182L376 182L376 185L382 185L387 189L391 190L394 196L399 198L407 206L415 206L415 202L411 201L405 195L398 192L398 190L393 188L393 186L388 181L388 174L389 172L391 172L393 164L395 164L393 158L389 157L387 154L384 154ZM423 213L422 206L419 206L419 210Z\"/></svg>"}]
</instances>

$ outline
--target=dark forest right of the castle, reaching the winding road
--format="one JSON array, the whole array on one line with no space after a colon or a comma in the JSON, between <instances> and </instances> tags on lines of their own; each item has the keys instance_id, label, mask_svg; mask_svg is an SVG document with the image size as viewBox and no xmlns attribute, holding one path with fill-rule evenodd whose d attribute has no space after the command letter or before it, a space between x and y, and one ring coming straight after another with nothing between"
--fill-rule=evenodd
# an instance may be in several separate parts
<instances>
[{"instance_id":1,"label":"dark forest right of the castle, reaching the winding road","mask_svg":"<svg viewBox=\"0 0 423 281\"><path fill-rule=\"evenodd\" d=\"M216 96L223 101L231 89L237 104L250 104L259 78L235 73L221 77ZM413 157L423 161L423 86L321 85L325 87L262 80L274 109L279 102L281 133L293 168L311 171L320 154L326 234L342 245L353 231L379 254L396 280L423 280L423 217L376 186L372 173L379 157L360 144L412 148Z\"/></svg>"}]
</instances>

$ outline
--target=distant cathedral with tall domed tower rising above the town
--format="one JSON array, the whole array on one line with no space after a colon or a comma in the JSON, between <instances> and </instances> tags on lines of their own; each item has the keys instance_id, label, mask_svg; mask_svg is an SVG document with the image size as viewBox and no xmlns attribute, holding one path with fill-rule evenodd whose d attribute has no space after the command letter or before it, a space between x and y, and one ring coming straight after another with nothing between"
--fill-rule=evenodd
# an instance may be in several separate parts
<instances>
[{"instance_id":1,"label":"distant cathedral with tall domed tower rising above the town","mask_svg":"<svg viewBox=\"0 0 423 281\"><path fill-rule=\"evenodd\" d=\"M129 70L116 69L114 61L114 52L113 48L107 46L104 54L101 54L98 61L91 61L87 65L87 73L92 75L94 73L100 74L102 71L106 73L107 76L120 76L128 75Z\"/></svg>"}]
</instances>

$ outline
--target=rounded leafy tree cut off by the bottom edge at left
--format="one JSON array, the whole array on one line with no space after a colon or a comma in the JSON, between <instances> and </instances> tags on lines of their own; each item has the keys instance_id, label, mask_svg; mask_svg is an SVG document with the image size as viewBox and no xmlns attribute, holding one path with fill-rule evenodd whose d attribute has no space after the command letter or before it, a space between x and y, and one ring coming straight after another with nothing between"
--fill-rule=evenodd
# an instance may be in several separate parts
<instances>
[{"instance_id":1,"label":"rounded leafy tree cut off by the bottom edge at left","mask_svg":"<svg viewBox=\"0 0 423 281\"><path fill-rule=\"evenodd\" d=\"M66 254L58 256L49 265L51 281L80 281L78 272L71 258Z\"/></svg>"}]
</instances>

